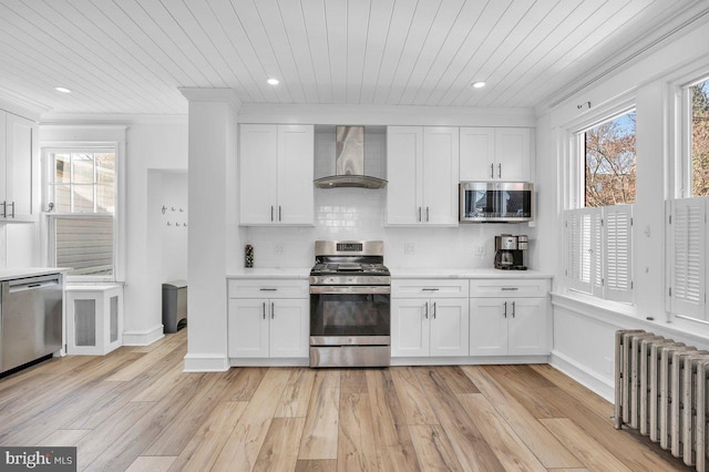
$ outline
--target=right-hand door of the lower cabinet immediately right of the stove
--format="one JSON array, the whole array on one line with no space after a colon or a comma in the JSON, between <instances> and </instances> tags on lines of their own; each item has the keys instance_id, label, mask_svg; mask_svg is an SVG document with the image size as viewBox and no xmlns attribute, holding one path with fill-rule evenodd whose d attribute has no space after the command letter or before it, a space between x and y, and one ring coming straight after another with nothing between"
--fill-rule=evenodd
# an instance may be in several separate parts
<instances>
[{"instance_id":1,"label":"right-hand door of the lower cabinet immediately right of the stove","mask_svg":"<svg viewBox=\"0 0 709 472\"><path fill-rule=\"evenodd\" d=\"M467 356L467 299L431 299L430 305L431 356Z\"/></svg>"}]
</instances>

